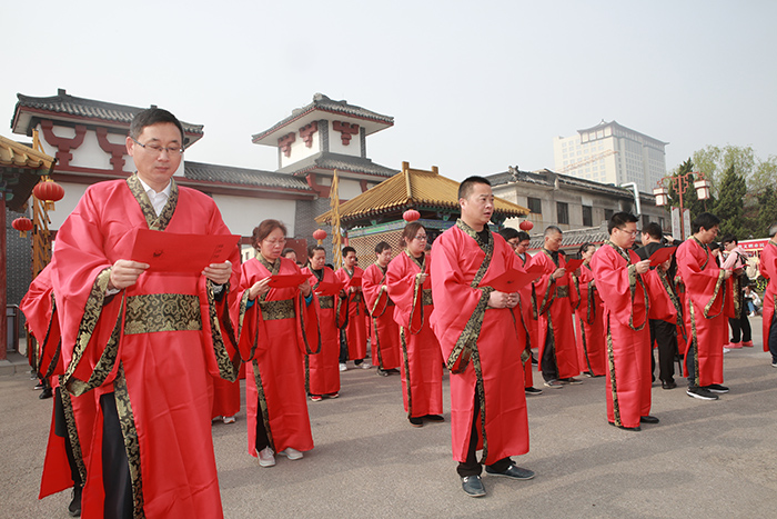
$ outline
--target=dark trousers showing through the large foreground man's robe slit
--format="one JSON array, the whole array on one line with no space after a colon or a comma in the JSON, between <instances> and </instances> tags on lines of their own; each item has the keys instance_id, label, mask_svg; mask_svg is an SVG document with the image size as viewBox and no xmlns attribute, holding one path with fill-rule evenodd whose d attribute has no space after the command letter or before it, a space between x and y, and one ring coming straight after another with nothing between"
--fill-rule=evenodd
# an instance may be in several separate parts
<instances>
[{"instance_id":1,"label":"dark trousers showing through the large foreground man's robe slit","mask_svg":"<svg viewBox=\"0 0 777 519\"><path fill-rule=\"evenodd\" d=\"M132 478L127 460L114 395L100 396L102 409L102 485L105 489L104 517L132 519Z\"/></svg>"}]
</instances>

